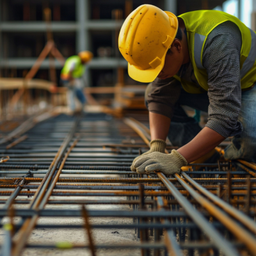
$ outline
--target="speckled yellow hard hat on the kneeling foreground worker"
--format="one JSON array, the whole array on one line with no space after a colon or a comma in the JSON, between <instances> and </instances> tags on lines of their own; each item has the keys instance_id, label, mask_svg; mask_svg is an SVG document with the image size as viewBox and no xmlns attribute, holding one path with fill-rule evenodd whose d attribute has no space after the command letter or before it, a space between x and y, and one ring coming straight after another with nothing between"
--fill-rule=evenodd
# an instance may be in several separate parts
<instances>
[{"instance_id":1,"label":"speckled yellow hard hat on the kneeling foreground worker","mask_svg":"<svg viewBox=\"0 0 256 256\"><path fill-rule=\"evenodd\" d=\"M177 17L154 5L143 4L130 13L120 30L118 47L132 79L143 83L156 79L177 30Z\"/></svg>"}]
</instances>

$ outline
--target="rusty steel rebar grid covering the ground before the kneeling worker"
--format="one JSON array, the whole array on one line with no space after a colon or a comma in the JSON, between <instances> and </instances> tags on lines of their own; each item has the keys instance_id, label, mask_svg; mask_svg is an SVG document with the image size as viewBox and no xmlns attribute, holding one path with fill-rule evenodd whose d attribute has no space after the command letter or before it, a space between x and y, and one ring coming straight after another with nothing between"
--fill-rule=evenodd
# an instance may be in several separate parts
<instances>
[{"instance_id":1,"label":"rusty steel rebar grid covering the ground before the kneeling worker","mask_svg":"<svg viewBox=\"0 0 256 256\"><path fill-rule=\"evenodd\" d=\"M134 157L147 151L147 128L136 120L123 122L99 114L57 116L27 129L26 134L20 132L25 135L22 140L13 138L15 143L3 140L0 145L0 158L10 157L0 163L2 255L22 255L24 248L80 248L91 255L120 248L154 256L256 255L253 163L191 164L173 177L139 175L129 166ZM86 207L101 204L130 208L102 211ZM51 209L51 205L63 208ZM80 206L69 209L68 205ZM3 224L6 216L9 222ZM84 225L38 223L40 217L67 216L83 218ZM22 219L16 223L16 217ZM131 218L132 224L91 224L90 218L116 218L117 222ZM84 244L29 243L36 228L84 229L86 240ZM141 243L104 244L93 239L91 230L111 228L134 229Z\"/></svg>"}]
</instances>

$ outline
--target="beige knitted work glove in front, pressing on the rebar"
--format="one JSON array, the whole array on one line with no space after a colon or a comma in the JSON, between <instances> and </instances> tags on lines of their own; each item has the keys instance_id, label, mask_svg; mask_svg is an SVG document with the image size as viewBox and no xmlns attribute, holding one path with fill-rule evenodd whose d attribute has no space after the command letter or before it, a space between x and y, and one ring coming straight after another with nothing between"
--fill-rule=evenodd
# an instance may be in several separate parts
<instances>
[{"instance_id":1,"label":"beige knitted work glove in front, pressing on the rebar","mask_svg":"<svg viewBox=\"0 0 256 256\"><path fill-rule=\"evenodd\" d=\"M133 166L136 168L136 172L140 174L159 171L165 175L172 175L180 173L180 168L187 164L186 159L173 149L171 154L153 152L146 156L141 156Z\"/></svg>"}]
</instances>

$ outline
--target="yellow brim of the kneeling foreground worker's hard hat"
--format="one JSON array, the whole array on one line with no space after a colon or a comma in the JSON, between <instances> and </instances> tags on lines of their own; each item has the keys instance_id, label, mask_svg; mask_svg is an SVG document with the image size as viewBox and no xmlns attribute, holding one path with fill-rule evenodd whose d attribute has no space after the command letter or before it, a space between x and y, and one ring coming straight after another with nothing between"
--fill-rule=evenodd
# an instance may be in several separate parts
<instances>
[{"instance_id":1,"label":"yellow brim of the kneeling foreground worker's hard hat","mask_svg":"<svg viewBox=\"0 0 256 256\"><path fill-rule=\"evenodd\" d=\"M167 51L166 51L167 52ZM161 60L161 64L157 66L156 68L148 68L146 70L141 70L138 69L136 66L131 65L128 63L128 74L129 76L141 83L151 83L156 79L156 77L159 75L161 70L164 67L164 61L165 61L165 56L166 52Z\"/></svg>"}]
</instances>

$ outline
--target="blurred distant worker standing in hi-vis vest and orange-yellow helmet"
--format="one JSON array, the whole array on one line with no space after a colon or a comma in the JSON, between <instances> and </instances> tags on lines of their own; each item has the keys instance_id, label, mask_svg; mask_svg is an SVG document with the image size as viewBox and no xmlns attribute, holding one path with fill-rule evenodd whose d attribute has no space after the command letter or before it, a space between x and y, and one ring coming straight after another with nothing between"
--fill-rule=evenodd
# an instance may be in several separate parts
<instances>
[{"instance_id":1,"label":"blurred distant worker standing in hi-vis vest and orange-yellow helmet","mask_svg":"<svg viewBox=\"0 0 256 256\"><path fill-rule=\"evenodd\" d=\"M81 102L82 109L86 103L83 93L84 83L82 77L85 71L85 64L92 60L92 58L93 54L90 51L79 52L78 55L69 57L61 70L61 82L68 88L68 106L72 113L76 109L76 97Z\"/></svg>"}]
</instances>

